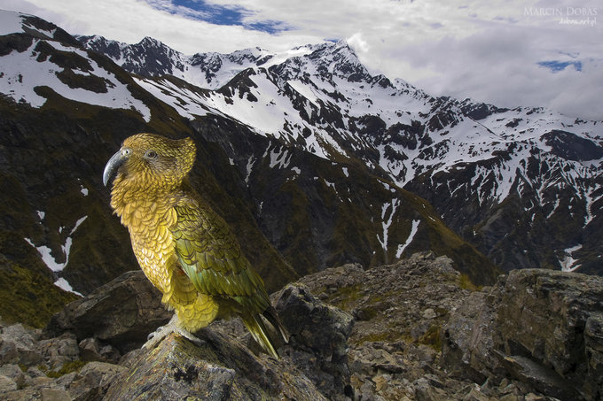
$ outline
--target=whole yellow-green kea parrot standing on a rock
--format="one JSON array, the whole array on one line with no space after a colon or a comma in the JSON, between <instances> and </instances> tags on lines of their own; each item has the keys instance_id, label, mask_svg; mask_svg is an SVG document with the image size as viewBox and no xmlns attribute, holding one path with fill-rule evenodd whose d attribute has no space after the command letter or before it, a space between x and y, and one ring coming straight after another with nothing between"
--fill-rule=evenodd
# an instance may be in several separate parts
<instances>
[{"instance_id":1,"label":"whole yellow-green kea parrot standing on a rock","mask_svg":"<svg viewBox=\"0 0 603 401\"><path fill-rule=\"evenodd\" d=\"M192 333L215 319L239 316L255 342L278 359L278 336L286 343L288 335L262 278L187 179L196 151L191 138L132 135L103 172L105 185L114 177L111 206L128 227L138 264L163 294L161 302L175 311L145 346L171 332L200 341ZM267 330L266 320L274 330Z\"/></svg>"}]
</instances>

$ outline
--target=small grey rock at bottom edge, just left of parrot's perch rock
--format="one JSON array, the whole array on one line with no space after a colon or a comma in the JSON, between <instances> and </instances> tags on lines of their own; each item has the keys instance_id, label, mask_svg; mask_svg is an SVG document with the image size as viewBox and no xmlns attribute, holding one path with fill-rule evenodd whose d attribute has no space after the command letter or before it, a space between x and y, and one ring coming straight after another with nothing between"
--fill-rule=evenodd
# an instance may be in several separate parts
<instances>
[{"instance_id":1,"label":"small grey rock at bottom edge, just left of parrot's perch rock","mask_svg":"<svg viewBox=\"0 0 603 401\"><path fill-rule=\"evenodd\" d=\"M114 379L127 368L107 364L105 362L90 362L74 375L68 384L69 399L76 401L102 399Z\"/></svg>"}]
</instances>

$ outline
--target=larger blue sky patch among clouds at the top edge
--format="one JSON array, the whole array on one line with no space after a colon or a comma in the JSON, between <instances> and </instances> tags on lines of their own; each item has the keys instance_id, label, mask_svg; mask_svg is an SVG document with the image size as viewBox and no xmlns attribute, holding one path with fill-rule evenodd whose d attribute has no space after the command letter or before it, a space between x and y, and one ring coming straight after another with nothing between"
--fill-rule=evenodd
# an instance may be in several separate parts
<instances>
[{"instance_id":1,"label":"larger blue sky patch among clouds at the top edge","mask_svg":"<svg viewBox=\"0 0 603 401\"><path fill-rule=\"evenodd\" d=\"M215 25L240 26L268 34L288 30L284 22L265 20L246 22L245 18L254 12L239 6L208 4L203 0L146 0L153 8L186 18L199 19Z\"/></svg>"}]
</instances>

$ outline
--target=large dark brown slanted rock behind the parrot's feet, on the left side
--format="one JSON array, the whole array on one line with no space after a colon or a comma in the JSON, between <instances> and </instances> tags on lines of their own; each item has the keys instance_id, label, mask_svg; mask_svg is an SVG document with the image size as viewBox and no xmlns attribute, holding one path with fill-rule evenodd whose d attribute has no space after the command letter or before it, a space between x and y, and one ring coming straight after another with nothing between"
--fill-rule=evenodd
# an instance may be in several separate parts
<instances>
[{"instance_id":1,"label":"large dark brown slanted rock behind the parrot's feet, on the left side","mask_svg":"<svg viewBox=\"0 0 603 401\"><path fill-rule=\"evenodd\" d=\"M161 305L161 293L137 270L67 305L52 316L43 335L51 338L70 331L78 341L96 336L125 353L139 348L171 316Z\"/></svg>"}]
</instances>

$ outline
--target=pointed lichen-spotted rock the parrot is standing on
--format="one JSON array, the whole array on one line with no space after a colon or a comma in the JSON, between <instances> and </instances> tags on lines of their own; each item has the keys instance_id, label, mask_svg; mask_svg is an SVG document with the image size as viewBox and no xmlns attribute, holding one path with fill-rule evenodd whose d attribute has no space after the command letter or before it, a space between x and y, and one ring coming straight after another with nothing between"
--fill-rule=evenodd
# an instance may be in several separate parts
<instances>
[{"instance_id":1,"label":"pointed lichen-spotted rock the parrot is standing on","mask_svg":"<svg viewBox=\"0 0 603 401\"><path fill-rule=\"evenodd\" d=\"M255 357L213 329L197 335L200 346L168 335L118 376L105 399L326 399L285 361Z\"/></svg>"}]
</instances>

